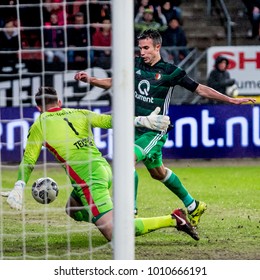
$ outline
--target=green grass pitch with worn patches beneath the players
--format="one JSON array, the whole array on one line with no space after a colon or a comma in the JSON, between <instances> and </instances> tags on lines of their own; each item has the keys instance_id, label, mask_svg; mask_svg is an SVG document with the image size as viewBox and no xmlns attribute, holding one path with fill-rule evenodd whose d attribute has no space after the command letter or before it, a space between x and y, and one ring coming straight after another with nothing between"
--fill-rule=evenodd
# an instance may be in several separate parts
<instances>
[{"instance_id":1,"label":"green grass pitch with worn patches beneath the players","mask_svg":"<svg viewBox=\"0 0 260 280\"><path fill-rule=\"evenodd\" d=\"M239 163L239 164L236 164ZM137 237L137 260L252 260L260 259L260 172L258 162L214 164L168 162L189 192L208 205L198 227L200 241L166 228ZM15 168L16 169L16 168ZM14 168L3 168L2 189L11 189ZM41 205L31 196L33 181L43 171L60 186L58 198ZM164 185L150 178L140 165L139 216L171 213L182 203ZM64 211L71 191L64 171L57 166L36 168L25 191L25 210L19 213L0 198L0 248L2 259L113 258L110 244L91 224L70 219Z\"/></svg>"}]
</instances>

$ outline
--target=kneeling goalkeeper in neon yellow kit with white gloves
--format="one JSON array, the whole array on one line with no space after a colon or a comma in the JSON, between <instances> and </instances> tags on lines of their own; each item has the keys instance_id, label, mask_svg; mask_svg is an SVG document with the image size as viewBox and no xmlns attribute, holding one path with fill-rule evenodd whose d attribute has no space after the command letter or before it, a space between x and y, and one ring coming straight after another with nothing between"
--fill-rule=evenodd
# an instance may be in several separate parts
<instances>
[{"instance_id":1,"label":"kneeling goalkeeper in neon yellow kit with white gloves","mask_svg":"<svg viewBox=\"0 0 260 280\"><path fill-rule=\"evenodd\" d=\"M96 147L92 128L112 128L112 116L84 109L62 108L52 87L41 87L35 101L41 114L30 127L17 182L12 191L2 192L1 195L8 196L7 203L11 208L22 209L24 188L41 148L45 146L62 164L73 186L66 213L76 221L94 223L110 241L113 233L113 202L109 193L112 172ZM149 116L138 116L138 125L165 131L170 123L169 117L158 113L156 109ZM182 209L175 209L166 216L138 218L134 222L136 236L160 228L176 227L199 240Z\"/></svg>"}]
</instances>

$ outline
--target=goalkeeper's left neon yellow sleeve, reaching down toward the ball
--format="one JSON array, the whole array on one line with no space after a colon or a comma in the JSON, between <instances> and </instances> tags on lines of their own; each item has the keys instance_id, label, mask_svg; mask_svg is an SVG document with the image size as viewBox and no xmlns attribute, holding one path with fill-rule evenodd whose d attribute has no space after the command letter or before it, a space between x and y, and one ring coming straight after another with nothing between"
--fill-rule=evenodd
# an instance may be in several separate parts
<instances>
[{"instance_id":1,"label":"goalkeeper's left neon yellow sleeve, reaching down toward the ball","mask_svg":"<svg viewBox=\"0 0 260 280\"><path fill-rule=\"evenodd\" d=\"M23 154L23 159L19 165L17 180L28 182L34 166L38 160L43 144L42 131L40 123L35 122L27 136L27 143Z\"/></svg>"}]
</instances>

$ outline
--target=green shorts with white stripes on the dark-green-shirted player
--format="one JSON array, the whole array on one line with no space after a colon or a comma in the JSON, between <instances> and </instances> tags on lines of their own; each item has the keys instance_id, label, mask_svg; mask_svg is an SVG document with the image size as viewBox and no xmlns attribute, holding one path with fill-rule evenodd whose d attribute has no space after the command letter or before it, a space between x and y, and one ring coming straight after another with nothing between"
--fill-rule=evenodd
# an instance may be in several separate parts
<instances>
[{"instance_id":1,"label":"green shorts with white stripes on the dark-green-shirted player","mask_svg":"<svg viewBox=\"0 0 260 280\"><path fill-rule=\"evenodd\" d=\"M162 166L162 147L167 134L149 131L135 136L135 155L137 162L143 161L147 169Z\"/></svg>"}]
</instances>

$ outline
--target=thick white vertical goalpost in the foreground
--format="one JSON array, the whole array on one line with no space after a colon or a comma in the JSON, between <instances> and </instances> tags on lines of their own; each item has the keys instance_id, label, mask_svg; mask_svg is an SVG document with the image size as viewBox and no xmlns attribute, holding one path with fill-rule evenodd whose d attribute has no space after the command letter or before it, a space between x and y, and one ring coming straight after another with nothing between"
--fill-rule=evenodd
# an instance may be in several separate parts
<instances>
[{"instance_id":1,"label":"thick white vertical goalpost in the foreground","mask_svg":"<svg viewBox=\"0 0 260 280\"><path fill-rule=\"evenodd\" d=\"M133 1L113 0L115 259L134 259L133 30Z\"/></svg>"}]
</instances>

